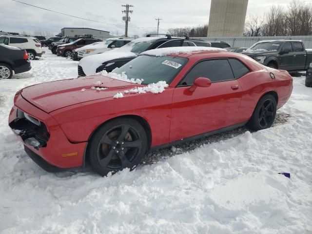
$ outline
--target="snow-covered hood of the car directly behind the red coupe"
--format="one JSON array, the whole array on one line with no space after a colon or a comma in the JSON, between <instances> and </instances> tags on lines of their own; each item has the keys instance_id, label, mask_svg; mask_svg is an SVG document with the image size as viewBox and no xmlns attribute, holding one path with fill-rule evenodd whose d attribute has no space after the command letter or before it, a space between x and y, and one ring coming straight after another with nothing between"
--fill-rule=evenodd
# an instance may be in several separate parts
<instances>
[{"instance_id":1,"label":"snow-covered hood of the car directly behind the red coupe","mask_svg":"<svg viewBox=\"0 0 312 234\"><path fill-rule=\"evenodd\" d=\"M137 54L131 51L115 49L102 54L85 57L80 60L79 66L82 67L84 74L86 74L87 76L91 76L97 72L97 68L102 65L103 62L131 57L137 57Z\"/></svg>"}]
</instances>

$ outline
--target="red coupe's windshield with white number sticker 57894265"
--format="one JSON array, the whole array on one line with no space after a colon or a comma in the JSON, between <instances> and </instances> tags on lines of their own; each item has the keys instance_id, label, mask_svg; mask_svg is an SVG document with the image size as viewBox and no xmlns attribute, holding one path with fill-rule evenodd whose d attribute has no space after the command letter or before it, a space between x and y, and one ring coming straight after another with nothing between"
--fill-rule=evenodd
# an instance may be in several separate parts
<instances>
[{"instance_id":1,"label":"red coupe's windshield with white number sticker 57894265","mask_svg":"<svg viewBox=\"0 0 312 234\"><path fill-rule=\"evenodd\" d=\"M128 79L143 79L142 84L166 81L167 84L175 78L176 74L188 62L186 58L163 56L155 57L142 55L131 60L113 73L126 74Z\"/></svg>"}]
</instances>

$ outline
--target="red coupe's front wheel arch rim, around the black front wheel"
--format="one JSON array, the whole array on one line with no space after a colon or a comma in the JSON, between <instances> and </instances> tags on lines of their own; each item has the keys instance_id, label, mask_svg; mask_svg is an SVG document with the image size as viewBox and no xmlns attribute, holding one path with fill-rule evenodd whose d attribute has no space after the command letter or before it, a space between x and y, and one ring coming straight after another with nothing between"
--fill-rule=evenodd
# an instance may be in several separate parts
<instances>
[{"instance_id":1,"label":"red coupe's front wheel arch rim, around the black front wheel","mask_svg":"<svg viewBox=\"0 0 312 234\"><path fill-rule=\"evenodd\" d=\"M106 121L104 121L103 123L99 124L98 127L91 133L91 135L88 138L87 141L87 145L85 148L85 152L84 152L84 156L83 156L83 165L86 164L86 162L88 162L89 158L88 158L88 151L89 151L89 142L92 140L92 137L97 133L97 131L100 129L100 127L102 127L104 124L109 123L112 120L118 119L118 118L132 118L137 120L144 128L145 132L146 132L146 136L147 136L147 140L148 140L148 149L147 152L150 150L151 148L151 144L152 144L152 131L151 131L151 126L149 124L149 122L141 117L141 116L137 116L137 115L124 115L124 116L118 116L118 117L113 117L111 119L108 119Z\"/></svg>"}]
</instances>

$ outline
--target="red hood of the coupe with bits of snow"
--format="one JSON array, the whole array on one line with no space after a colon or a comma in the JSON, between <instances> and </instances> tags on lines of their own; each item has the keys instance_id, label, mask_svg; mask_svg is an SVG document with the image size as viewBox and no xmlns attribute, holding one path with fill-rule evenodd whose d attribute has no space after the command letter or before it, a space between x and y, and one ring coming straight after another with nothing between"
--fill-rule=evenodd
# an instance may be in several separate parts
<instances>
[{"instance_id":1,"label":"red hood of the coupe with bits of snow","mask_svg":"<svg viewBox=\"0 0 312 234\"><path fill-rule=\"evenodd\" d=\"M42 111L50 113L82 102L112 98L118 92L141 86L114 78L91 76L32 85L22 89L21 96ZM106 89L98 91L92 87Z\"/></svg>"}]
</instances>

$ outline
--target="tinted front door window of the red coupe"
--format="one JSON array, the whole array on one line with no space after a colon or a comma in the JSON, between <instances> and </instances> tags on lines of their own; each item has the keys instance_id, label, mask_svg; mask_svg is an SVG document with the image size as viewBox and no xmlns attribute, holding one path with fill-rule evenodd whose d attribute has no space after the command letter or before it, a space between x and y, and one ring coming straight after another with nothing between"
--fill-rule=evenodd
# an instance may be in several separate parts
<instances>
[{"instance_id":1,"label":"tinted front door window of the red coupe","mask_svg":"<svg viewBox=\"0 0 312 234\"><path fill-rule=\"evenodd\" d=\"M234 79L228 59L211 59L197 63L179 85L193 85L198 77L209 78L211 82Z\"/></svg>"}]
</instances>

